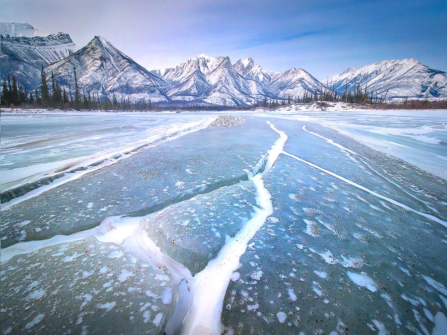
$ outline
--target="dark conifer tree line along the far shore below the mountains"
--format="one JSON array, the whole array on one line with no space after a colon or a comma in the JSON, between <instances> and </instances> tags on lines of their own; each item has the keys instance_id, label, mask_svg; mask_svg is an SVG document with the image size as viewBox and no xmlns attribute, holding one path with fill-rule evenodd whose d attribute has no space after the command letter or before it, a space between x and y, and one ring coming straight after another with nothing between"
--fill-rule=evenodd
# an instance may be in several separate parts
<instances>
[{"instance_id":1,"label":"dark conifer tree line along the far shore below the mountains","mask_svg":"<svg viewBox=\"0 0 447 335\"><path fill-rule=\"evenodd\" d=\"M74 109L74 110L230 110L230 109L247 109L247 106L229 107L229 106L215 106L209 104L193 104L193 105L156 105L144 98L138 101L130 101L121 96L118 99L113 94L110 99L107 96L100 97L98 92L91 92L89 89L79 89L76 68L73 67L74 87L70 85L68 88L62 87L54 77L53 71L47 82L47 74L42 66L40 75L40 92L34 89L27 92L26 86L21 85L14 75L12 80L8 74L7 80L3 79L1 89L1 106L2 107L26 107L26 108L60 108L60 109ZM362 88L360 83L353 86L354 89L348 92L348 86L345 86L343 94L339 94L334 85L330 88L321 86L318 91L313 92L304 90L301 97L292 97L288 95L284 98L267 99L263 101L255 101L251 108L264 107L274 109L279 106L286 106L294 103L312 103L312 102L344 102L344 103L362 103L371 104L375 108L446 108L446 101L429 101L428 92L425 93L424 99L409 101L407 98L402 103L386 102L386 95L378 95L377 91L368 90L368 83L365 88ZM440 107L443 106L443 107Z\"/></svg>"}]
</instances>

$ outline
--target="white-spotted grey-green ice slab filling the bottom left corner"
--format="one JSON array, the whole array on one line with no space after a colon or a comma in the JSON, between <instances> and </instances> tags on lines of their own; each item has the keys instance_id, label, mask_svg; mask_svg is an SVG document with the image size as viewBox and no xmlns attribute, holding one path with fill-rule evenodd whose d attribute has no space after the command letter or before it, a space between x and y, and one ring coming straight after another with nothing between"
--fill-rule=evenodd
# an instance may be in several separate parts
<instances>
[{"instance_id":1,"label":"white-spotted grey-green ice slab filling the bottom left corner","mask_svg":"<svg viewBox=\"0 0 447 335\"><path fill-rule=\"evenodd\" d=\"M1 267L2 334L162 334L178 286L163 270L94 238Z\"/></svg>"}]
</instances>

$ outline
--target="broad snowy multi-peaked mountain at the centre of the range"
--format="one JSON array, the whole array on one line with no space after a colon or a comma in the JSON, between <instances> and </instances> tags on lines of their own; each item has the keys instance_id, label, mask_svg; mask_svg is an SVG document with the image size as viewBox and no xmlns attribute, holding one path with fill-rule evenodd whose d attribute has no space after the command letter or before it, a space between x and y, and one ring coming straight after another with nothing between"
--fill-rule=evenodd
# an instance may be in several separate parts
<instances>
[{"instance_id":1,"label":"broad snowy multi-peaked mountain at the centre of the range","mask_svg":"<svg viewBox=\"0 0 447 335\"><path fill-rule=\"evenodd\" d=\"M237 73L228 57L201 54L167 68L161 77L172 87L167 92L172 100L239 106L273 97L257 81Z\"/></svg>"}]
</instances>

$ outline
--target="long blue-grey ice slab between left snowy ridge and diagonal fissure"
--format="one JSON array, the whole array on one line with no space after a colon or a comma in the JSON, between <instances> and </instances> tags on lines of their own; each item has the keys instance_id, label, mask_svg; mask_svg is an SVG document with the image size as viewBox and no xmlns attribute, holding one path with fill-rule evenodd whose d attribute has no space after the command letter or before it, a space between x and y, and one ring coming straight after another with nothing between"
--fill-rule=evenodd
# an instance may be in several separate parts
<instances>
[{"instance_id":1,"label":"long blue-grey ice slab between left snowy ridge and diagonal fissure","mask_svg":"<svg viewBox=\"0 0 447 335\"><path fill-rule=\"evenodd\" d=\"M246 180L244 170L277 136L264 120L245 119L159 144L2 211L2 246L89 229L111 215L144 216Z\"/></svg>"}]
</instances>

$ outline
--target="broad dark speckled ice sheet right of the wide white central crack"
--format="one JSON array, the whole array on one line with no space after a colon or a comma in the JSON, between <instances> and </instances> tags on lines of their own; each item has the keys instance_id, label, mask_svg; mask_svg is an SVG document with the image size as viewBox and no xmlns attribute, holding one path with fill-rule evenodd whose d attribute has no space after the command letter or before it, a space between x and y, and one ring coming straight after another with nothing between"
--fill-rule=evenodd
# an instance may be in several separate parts
<instances>
[{"instance_id":1,"label":"broad dark speckled ice sheet right of the wide white central crack","mask_svg":"<svg viewBox=\"0 0 447 335\"><path fill-rule=\"evenodd\" d=\"M299 124L276 125L289 134L285 151L446 219L445 187L426 173L316 125L359 154L309 137ZM289 156L280 156L264 180L274 211L228 286L228 332L365 334L384 327L399 334L433 327L421 316L445 310L443 225Z\"/></svg>"}]
</instances>

